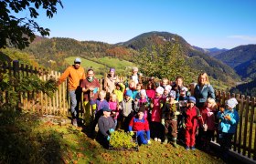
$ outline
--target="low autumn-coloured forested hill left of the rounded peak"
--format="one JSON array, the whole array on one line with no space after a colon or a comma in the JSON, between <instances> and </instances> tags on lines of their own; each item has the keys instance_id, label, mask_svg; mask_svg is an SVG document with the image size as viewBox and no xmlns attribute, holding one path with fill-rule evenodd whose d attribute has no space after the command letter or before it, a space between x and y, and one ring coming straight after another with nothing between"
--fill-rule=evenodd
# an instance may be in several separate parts
<instances>
[{"instance_id":1,"label":"low autumn-coloured forested hill left of the rounded peak","mask_svg":"<svg viewBox=\"0 0 256 164\"><path fill-rule=\"evenodd\" d=\"M64 59L69 56L80 56L87 59L91 57L113 56L131 60L136 54L132 48L113 46L103 42L77 41L71 38L54 37L41 39L32 43L25 50L28 54L35 56L43 66L63 71L67 67Z\"/></svg>"}]
</instances>

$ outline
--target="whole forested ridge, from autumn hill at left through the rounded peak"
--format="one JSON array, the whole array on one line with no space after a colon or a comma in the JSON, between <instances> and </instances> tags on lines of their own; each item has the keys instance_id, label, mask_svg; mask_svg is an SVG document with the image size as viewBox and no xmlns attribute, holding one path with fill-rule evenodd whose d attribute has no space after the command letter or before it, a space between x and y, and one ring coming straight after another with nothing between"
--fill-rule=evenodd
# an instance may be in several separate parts
<instances>
[{"instance_id":1,"label":"whole forested ridge, from autumn hill at left through the rounded peak","mask_svg":"<svg viewBox=\"0 0 256 164\"><path fill-rule=\"evenodd\" d=\"M143 48L151 49L153 46L164 46L166 43L178 43L187 66L193 70L207 72L211 77L225 82L240 80L232 68L190 46L183 37L168 32L144 33L127 42L114 45L94 41L80 42L62 37L38 38L24 52L34 56L40 65L63 71L68 65L64 59L69 56L80 56L86 59L94 56L112 56L134 62L136 58L134 56L140 56Z\"/></svg>"}]
</instances>

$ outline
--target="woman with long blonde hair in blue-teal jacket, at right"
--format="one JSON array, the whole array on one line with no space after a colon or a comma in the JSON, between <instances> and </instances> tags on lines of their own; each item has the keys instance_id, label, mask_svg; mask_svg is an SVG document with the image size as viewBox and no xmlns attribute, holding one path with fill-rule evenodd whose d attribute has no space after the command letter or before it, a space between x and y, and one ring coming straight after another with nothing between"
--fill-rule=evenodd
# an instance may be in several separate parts
<instances>
[{"instance_id":1,"label":"woman with long blonde hair in blue-teal jacket, at right","mask_svg":"<svg viewBox=\"0 0 256 164\"><path fill-rule=\"evenodd\" d=\"M204 107L208 97L215 99L214 89L209 84L207 73L199 74L197 86L194 90L194 96L197 98L196 106L200 109L200 111Z\"/></svg>"}]
</instances>

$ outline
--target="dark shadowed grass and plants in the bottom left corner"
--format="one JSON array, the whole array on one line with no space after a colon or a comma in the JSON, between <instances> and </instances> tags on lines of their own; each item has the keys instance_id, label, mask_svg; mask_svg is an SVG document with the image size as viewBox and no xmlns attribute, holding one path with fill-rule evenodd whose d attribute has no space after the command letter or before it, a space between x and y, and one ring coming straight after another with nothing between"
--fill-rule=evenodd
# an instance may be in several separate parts
<instances>
[{"instance_id":1,"label":"dark shadowed grass and plants in the bottom left corner","mask_svg":"<svg viewBox=\"0 0 256 164\"><path fill-rule=\"evenodd\" d=\"M0 163L59 163L59 134L39 125L36 115L0 110Z\"/></svg>"}]
</instances>

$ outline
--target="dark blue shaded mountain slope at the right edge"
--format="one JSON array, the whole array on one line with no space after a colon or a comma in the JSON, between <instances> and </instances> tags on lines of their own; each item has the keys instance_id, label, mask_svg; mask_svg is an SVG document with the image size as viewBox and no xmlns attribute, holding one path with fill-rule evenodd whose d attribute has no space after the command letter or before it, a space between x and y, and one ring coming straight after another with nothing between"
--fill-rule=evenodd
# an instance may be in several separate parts
<instances>
[{"instance_id":1,"label":"dark blue shaded mountain slope at the right edge","mask_svg":"<svg viewBox=\"0 0 256 164\"><path fill-rule=\"evenodd\" d=\"M214 57L233 67L240 77L256 77L256 45L237 46Z\"/></svg>"}]
</instances>

